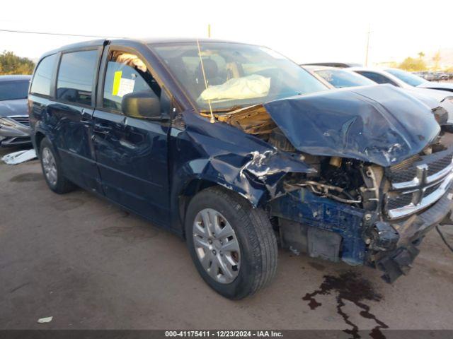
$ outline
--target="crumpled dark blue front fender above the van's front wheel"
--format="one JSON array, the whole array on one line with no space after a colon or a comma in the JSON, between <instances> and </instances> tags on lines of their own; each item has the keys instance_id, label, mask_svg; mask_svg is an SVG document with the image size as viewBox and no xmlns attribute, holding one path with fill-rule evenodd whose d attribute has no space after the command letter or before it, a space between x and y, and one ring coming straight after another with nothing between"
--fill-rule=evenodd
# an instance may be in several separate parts
<instances>
[{"instance_id":1,"label":"crumpled dark blue front fender above the van's front wheel","mask_svg":"<svg viewBox=\"0 0 453 339\"><path fill-rule=\"evenodd\" d=\"M169 141L172 206L196 179L231 189L257 207L265 196L277 194L285 174L315 171L255 136L222 122L210 124L193 112L183 112L175 127Z\"/></svg>"}]
</instances>

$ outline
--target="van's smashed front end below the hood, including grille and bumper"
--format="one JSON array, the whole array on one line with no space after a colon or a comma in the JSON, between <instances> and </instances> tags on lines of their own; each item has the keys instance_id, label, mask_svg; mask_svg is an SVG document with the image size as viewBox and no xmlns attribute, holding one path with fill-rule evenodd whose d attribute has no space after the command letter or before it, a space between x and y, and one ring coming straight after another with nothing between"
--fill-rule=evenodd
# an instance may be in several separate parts
<instances>
[{"instance_id":1,"label":"van's smashed front end below the hood, including grille and bumper","mask_svg":"<svg viewBox=\"0 0 453 339\"><path fill-rule=\"evenodd\" d=\"M416 158L388 168L347 161L336 171L325 159L320 182L291 176L285 194L269 202L282 246L374 266L389 283L408 273L418 244L453 207L453 148ZM342 180L342 171L354 179Z\"/></svg>"}]
</instances>

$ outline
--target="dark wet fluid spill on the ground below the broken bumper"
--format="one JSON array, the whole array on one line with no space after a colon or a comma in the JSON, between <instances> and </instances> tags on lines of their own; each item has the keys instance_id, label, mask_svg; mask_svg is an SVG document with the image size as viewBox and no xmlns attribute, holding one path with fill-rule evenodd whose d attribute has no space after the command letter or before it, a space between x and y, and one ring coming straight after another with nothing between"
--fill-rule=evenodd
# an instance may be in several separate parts
<instances>
[{"instance_id":1,"label":"dark wet fluid spill on the ground below the broken bumper","mask_svg":"<svg viewBox=\"0 0 453 339\"><path fill-rule=\"evenodd\" d=\"M366 301L379 302L382 300L382 295L374 292L374 289L368 280L351 271L343 273L338 277L324 275L324 281L319 286L319 289L307 293L302 299L309 302L310 309L316 309L322 305L321 302L318 302L315 299L316 295L331 295L333 293L336 294L337 313L343 318L345 323L352 326L352 329L343 330L345 333L352 335L352 338L354 339L361 338L359 327L350 320L350 316L343 310L345 301L348 300L361 309L360 316L365 319L372 319L377 324L369 335L373 339L386 338L381 329L389 328L389 326L377 319L377 316L371 313L370 307L365 304Z\"/></svg>"}]
</instances>

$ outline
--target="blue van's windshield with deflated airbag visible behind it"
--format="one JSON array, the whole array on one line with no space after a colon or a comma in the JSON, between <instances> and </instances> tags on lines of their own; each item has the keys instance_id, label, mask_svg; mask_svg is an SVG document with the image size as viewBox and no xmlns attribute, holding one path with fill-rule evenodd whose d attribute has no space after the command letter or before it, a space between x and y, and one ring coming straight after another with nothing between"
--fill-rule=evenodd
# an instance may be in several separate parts
<instances>
[{"instance_id":1,"label":"blue van's windshield with deflated airbag visible behind it","mask_svg":"<svg viewBox=\"0 0 453 339\"><path fill-rule=\"evenodd\" d=\"M210 103L214 110L228 111L328 89L309 72L265 47L202 42L202 62L196 42L151 48L200 110L208 110Z\"/></svg>"}]
</instances>

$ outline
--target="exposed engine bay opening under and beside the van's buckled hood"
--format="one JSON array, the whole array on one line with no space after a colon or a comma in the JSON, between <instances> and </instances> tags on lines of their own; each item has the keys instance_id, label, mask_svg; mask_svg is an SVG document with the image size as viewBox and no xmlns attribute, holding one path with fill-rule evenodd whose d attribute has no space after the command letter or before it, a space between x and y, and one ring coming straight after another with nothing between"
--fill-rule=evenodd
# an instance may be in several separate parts
<instances>
[{"instance_id":1,"label":"exposed engine bay opening under and beside the van's buckled hood","mask_svg":"<svg viewBox=\"0 0 453 339\"><path fill-rule=\"evenodd\" d=\"M433 114L437 121L441 119L438 110ZM444 117L445 114L442 115L442 119ZM304 187L316 195L371 211L382 207L380 204L383 195L392 196L389 193L391 187L387 178L389 174L401 172L401 169L419 162L425 155L432 155L447 149L447 145L441 141L443 135L441 133L432 144L423 149L420 155L414 155L385 170L379 165L360 160L316 156L297 151L277 127L263 105L246 107L222 115L216 114L216 118L267 141L278 150L297 153L300 160L316 169L316 173L313 174L289 174L285 179L286 191Z\"/></svg>"}]
</instances>

